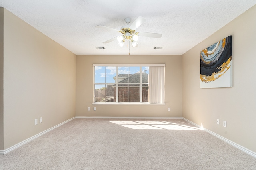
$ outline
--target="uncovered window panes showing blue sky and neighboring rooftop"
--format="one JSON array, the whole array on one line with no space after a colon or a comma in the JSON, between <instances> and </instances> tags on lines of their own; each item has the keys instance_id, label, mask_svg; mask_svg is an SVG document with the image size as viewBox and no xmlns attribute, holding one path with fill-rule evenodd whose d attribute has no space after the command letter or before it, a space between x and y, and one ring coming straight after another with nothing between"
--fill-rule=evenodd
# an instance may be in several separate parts
<instances>
[{"instance_id":1,"label":"uncovered window panes showing blue sky and neighboring rooftop","mask_svg":"<svg viewBox=\"0 0 256 170\"><path fill-rule=\"evenodd\" d=\"M148 102L148 75L149 67L95 66L94 102Z\"/></svg>"}]
</instances>

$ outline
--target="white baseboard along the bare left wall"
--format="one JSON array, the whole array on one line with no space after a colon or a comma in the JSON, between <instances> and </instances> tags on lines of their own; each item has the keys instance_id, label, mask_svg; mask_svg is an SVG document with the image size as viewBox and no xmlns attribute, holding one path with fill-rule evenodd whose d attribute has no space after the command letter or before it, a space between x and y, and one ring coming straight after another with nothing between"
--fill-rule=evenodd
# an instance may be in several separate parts
<instances>
[{"instance_id":1,"label":"white baseboard along the bare left wall","mask_svg":"<svg viewBox=\"0 0 256 170\"><path fill-rule=\"evenodd\" d=\"M65 123L67 123L67 122L69 122L69 121L75 119L75 118L76 118L76 117L73 117L73 118L68 119L68 120L66 120L66 121L64 121L64 122L62 122L62 123L60 123L60 124L58 124L58 125L56 125L56 126L54 126L54 127L51 127L51 128L49 128L49 129L47 129L47 130L44 130L43 132L38 133L38 134L36 134L35 136L32 136L32 137L30 137L30 138L28 138L28 139L26 139L26 140L23 140L22 142L20 142L20 143L14 145L14 146L12 146L12 147L6 149L6 150L0 150L0 155L6 154L6 153L8 153L8 152L14 150L15 148L18 148L18 147L20 147L20 146L22 146L22 145L24 145L24 144L30 142L31 140L34 140L35 138L38 138L39 136L42 136L43 134L45 134L45 133L47 133L47 132L50 132L51 130L53 130L53 129L55 129L55 128L57 128L57 127L59 127L59 126L65 124Z\"/></svg>"}]
</instances>

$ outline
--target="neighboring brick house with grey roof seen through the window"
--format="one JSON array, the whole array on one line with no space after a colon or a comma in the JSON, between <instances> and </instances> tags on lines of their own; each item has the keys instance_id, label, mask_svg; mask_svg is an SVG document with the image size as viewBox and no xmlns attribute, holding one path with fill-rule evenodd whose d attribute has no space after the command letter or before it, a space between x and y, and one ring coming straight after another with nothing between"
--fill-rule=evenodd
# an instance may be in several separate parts
<instances>
[{"instance_id":1,"label":"neighboring brick house with grey roof seen through the window","mask_svg":"<svg viewBox=\"0 0 256 170\"><path fill-rule=\"evenodd\" d=\"M116 81L116 76L113 78ZM125 84L140 83L140 73L120 74L118 82L118 102L140 102L140 85ZM148 83L147 73L142 72L142 83ZM116 102L116 85L107 85L105 94L106 98L102 98L100 102ZM142 102L148 102L148 84L142 84Z\"/></svg>"}]
</instances>

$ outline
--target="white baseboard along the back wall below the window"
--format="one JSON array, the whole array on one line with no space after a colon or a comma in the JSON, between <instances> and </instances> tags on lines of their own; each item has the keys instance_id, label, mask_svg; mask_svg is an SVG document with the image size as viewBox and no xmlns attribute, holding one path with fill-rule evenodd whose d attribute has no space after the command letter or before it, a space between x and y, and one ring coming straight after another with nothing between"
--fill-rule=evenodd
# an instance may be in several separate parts
<instances>
[{"instance_id":1,"label":"white baseboard along the back wall below the window","mask_svg":"<svg viewBox=\"0 0 256 170\"><path fill-rule=\"evenodd\" d=\"M76 116L78 119L182 119L182 117L116 117L116 116Z\"/></svg>"}]
</instances>

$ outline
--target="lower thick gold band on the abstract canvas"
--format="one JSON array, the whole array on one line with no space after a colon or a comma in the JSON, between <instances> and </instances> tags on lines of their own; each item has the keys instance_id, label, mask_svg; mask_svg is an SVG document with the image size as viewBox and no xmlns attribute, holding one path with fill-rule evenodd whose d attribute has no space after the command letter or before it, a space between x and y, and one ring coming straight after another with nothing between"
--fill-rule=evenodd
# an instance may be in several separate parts
<instances>
[{"instance_id":1,"label":"lower thick gold band on the abstract canvas","mask_svg":"<svg viewBox=\"0 0 256 170\"><path fill-rule=\"evenodd\" d=\"M218 79L220 76L222 76L224 73L226 73L226 71L228 71L228 69L230 68L230 66L228 66L228 65L230 64L231 60L232 60L232 56L229 57L227 62L224 62L220 67L218 67L218 69L220 69L220 71L218 71L216 73L212 73L212 75L206 76L206 75L200 74L201 81L208 83L208 82Z\"/></svg>"}]
</instances>

